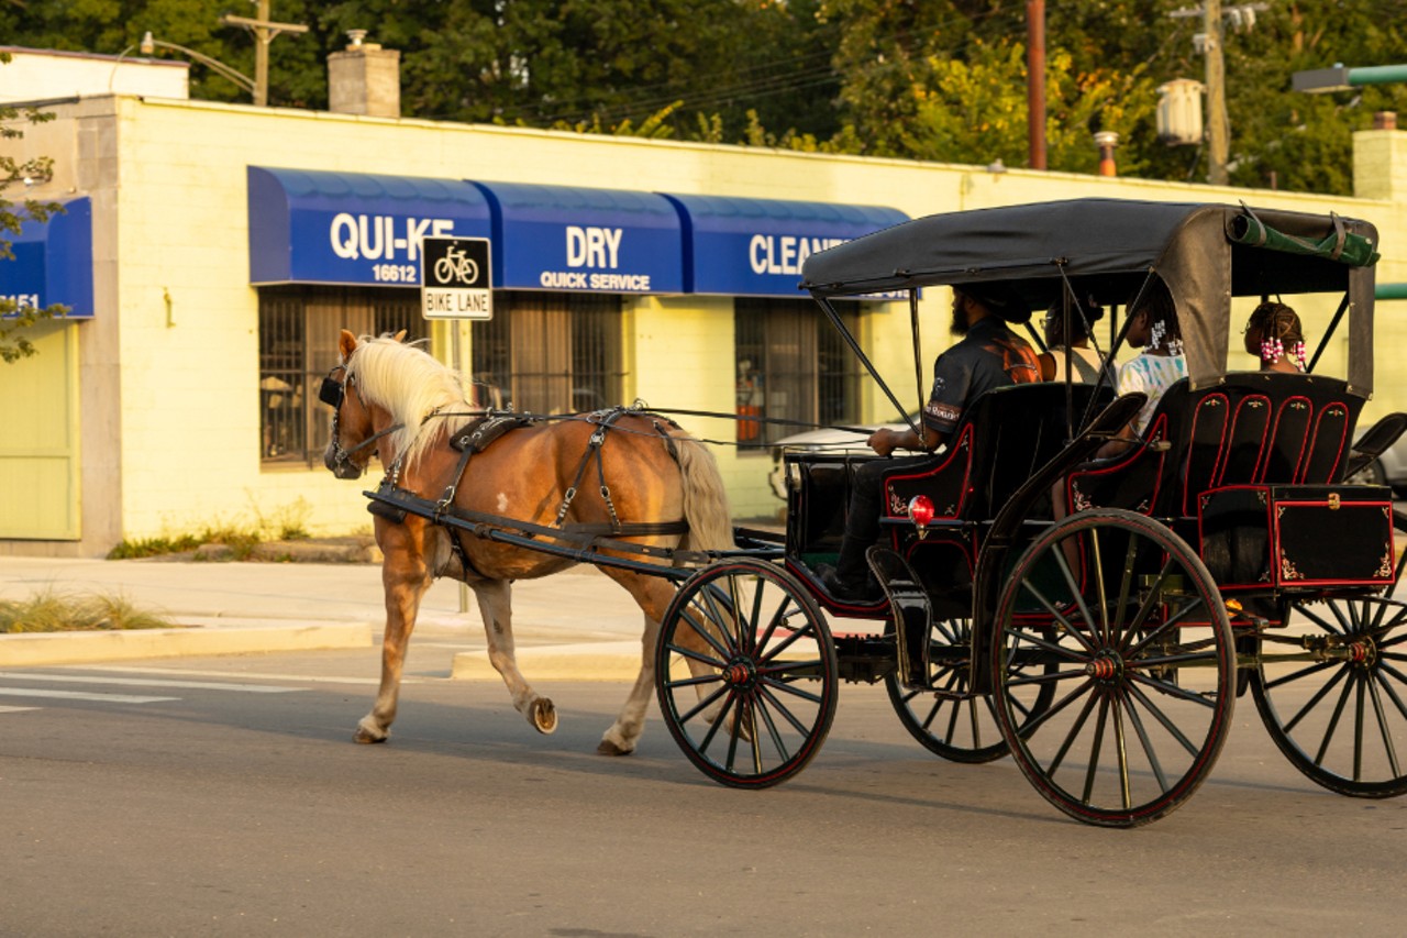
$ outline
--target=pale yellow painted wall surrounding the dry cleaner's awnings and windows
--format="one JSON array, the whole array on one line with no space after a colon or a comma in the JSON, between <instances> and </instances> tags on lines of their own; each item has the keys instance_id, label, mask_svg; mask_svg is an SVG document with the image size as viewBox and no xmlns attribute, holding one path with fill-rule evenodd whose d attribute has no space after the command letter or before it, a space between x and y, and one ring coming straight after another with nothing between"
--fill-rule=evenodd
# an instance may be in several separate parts
<instances>
[{"instance_id":1,"label":"pale yellow painted wall surrounding the dry cleaner's awnings and windows","mask_svg":"<svg viewBox=\"0 0 1407 938\"><path fill-rule=\"evenodd\" d=\"M107 99L111 100L111 99ZM120 99L115 162L121 317L121 477L124 534L149 537L218 521L307 510L317 531L367 525L362 483L321 468L262 470L259 463L257 301L248 284L249 165L469 177L546 185L881 204L913 217L1082 196L1228 201L1363 217L1379 225L1380 279L1407 280L1401 187L1372 199L1217 190L1207 186L1064 173L582 137L501 127L393 121L196 101ZM61 111L63 107L61 106ZM1407 135L1390 134L1399 173ZM170 318L165 296L170 296ZM922 304L924 372L951 339L948 292ZM862 335L885 377L913 396L909 314L902 303L868 307ZM1304 310L1311 323L1327 313ZM1389 349L1400 317L1379 317L1379 400L1370 413L1407 408L1407 386ZM658 407L733 410L732 304L726 299L628 300L628 396ZM1249 366L1249 359L1247 359ZM1341 372L1338 348L1324 370ZM865 396L867 420L892 407ZM727 439L720 420L682 418ZM765 458L719 448L737 517L771 514Z\"/></svg>"}]
</instances>

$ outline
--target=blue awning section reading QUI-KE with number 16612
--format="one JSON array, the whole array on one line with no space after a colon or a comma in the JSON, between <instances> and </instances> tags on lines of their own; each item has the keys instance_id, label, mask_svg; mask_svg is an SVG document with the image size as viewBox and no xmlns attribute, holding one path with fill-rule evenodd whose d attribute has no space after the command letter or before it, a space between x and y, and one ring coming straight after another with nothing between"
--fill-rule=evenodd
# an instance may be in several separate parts
<instances>
[{"instance_id":1,"label":"blue awning section reading QUI-KE with number 16612","mask_svg":"<svg viewBox=\"0 0 1407 938\"><path fill-rule=\"evenodd\" d=\"M415 286L421 238L487 238L457 179L249 168L249 282Z\"/></svg>"}]
</instances>

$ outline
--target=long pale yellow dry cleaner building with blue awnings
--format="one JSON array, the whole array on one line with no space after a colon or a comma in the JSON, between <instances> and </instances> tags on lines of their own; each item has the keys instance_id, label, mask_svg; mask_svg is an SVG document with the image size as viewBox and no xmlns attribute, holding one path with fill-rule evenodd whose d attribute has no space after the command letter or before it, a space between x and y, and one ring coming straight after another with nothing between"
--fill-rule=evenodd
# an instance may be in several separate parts
<instances>
[{"instance_id":1,"label":"long pale yellow dry cleaner building with blue awnings","mask_svg":"<svg viewBox=\"0 0 1407 938\"><path fill-rule=\"evenodd\" d=\"M52 156L56 175L34 194L69 214L25 232L42 261L23 266L35 276L46 265L38 301L82 286L75 265L91 297L41 332L41 355L0 368L11 404L0 551L11 552L100 555L124 538L252 520L367 528L366 486L321 465L317 383L343 327L425 335L522 410L640 399L820 424L888 420L796 282L806 254L905 217L1079 196L1244 199L1368 218L1382 232L1379 279L1407 280L1407 134L1394 130L1358 135L1359 196L1330 199L101 86L44 110L55 120L0 146ZM491 241L491 321L422 317L418 239L433 234ZM948 342L947 297L931 293L926 361ZM1301 313L1313 325L1332 308ZM912 386L906 304L851 303L846 315L893 386ZM1407 386L1383 370L1370 415L1407 403ZM716 452L737 517L775 514L765 442L789 428L680 420L729 444Z\"/></svg>"}]
</instances>

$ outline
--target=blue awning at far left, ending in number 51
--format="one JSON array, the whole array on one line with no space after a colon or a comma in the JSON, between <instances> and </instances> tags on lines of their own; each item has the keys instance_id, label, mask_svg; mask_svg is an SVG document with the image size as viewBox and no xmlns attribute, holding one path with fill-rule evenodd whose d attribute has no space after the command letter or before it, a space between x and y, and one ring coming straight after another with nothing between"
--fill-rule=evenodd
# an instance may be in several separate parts
<instances>
[{"instance_id":1,"label":"blue awning at far left, ending in number 51","mask_svg":"<svg viewBox=\"0 0 1407 938\"><path fill-rule=\"evenodd\" d=\"M69 318L93 318L93 203L73 199L48 221L25 221L0 261L0 296L18 306L62 303Z\"/></svg>"}]
</instances>

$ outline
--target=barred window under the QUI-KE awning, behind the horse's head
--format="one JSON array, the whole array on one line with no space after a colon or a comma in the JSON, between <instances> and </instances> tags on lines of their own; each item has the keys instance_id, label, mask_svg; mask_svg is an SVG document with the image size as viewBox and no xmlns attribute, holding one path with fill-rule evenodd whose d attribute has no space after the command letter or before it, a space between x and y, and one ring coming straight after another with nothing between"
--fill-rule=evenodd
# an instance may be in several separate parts
<instances>
[{"instance_id":1,"label":"barred window under the QUI-KE awning, behind the horse's head","mask_svg":"<svg viewBox=\"0 0 1407 938\"><path fill-rule=\"evenodd\" d=\"M259 290L259 432L266 466L317 465L331 411L318 400L338 363L338 335L405 330L428 335L419 293L377 287L277 286Z\"/></svg>"}]
</instances>

